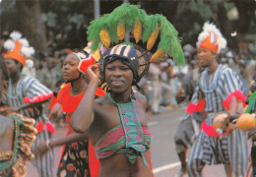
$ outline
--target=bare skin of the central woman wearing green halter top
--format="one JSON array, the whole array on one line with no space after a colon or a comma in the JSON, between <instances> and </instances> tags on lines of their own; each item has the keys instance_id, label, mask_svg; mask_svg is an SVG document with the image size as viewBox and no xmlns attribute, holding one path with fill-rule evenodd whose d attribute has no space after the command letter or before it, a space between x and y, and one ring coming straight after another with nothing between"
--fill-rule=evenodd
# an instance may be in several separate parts
<instances>
[{"instance_id":1,"label":"bare skin of the central woman wearing green halter top","mask_svg":"<svg viewBox=\"0 0 256 177\"><path fill-rule=\"evenodd\" d=\"M79 133L88 131L93 145L95 145L96 141L107 131L121 124L118 109L116 105L109 100L107 95L103 95L95 100L96 88L100 83L98 80L98 67L99 64L89 67L86 73L89 87L71 118L72 128ZM129 67L119 60L115 60L106 65L104 75L105 81L111 89L110 96L117 103L130 102L133 72ZM135 109L138 117L140 121L147 123L146 98L140 93L136 93L135 97ZM145 151L144 155L149 161L148 151ZM150 167L144 165L140 155L138 155L135 164L129 163L125 153L115 153L105 159L99 160L99 162L99 177L151 176Z\"/></svg>"}]
</instances>

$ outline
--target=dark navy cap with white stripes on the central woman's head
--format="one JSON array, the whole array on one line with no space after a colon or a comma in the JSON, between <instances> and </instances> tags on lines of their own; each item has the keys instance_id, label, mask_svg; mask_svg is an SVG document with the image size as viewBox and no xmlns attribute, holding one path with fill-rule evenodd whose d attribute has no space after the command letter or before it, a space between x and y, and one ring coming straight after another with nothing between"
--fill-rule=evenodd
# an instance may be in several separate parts
<instances>
[{"instance_id":1,"label":"dark navy cap with white stripes on the central woman's head","mask_svg":"<svg viewBox=\"0 0 256 177\"><path fill-rule=\"evenodd\" d=\"M133 46L128 44L118 44L107 51L103 57L103 74L105 66L115 60L120 60L133 72L134 85L139 82L139 57Z\"/></svg>"}]
</instances>

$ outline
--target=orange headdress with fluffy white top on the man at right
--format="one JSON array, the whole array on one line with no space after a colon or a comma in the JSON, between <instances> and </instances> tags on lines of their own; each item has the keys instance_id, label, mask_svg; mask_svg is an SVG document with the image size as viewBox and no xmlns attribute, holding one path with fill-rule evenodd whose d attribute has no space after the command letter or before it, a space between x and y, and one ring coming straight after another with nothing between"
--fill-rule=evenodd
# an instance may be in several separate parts
<instances>
[{"instance_id":1,"label":"orange headdress with fluffy white top on the man at right","mask_svg":"<svg viewBox=\"0 0 256 177\"><path fill-rule=\"evenodd\" d=\"M221 49L225 48L226 40L214 24L205 23L203 31L198 36L197 47L207 48L218 54Z\"/></svg>"}]
</instances>

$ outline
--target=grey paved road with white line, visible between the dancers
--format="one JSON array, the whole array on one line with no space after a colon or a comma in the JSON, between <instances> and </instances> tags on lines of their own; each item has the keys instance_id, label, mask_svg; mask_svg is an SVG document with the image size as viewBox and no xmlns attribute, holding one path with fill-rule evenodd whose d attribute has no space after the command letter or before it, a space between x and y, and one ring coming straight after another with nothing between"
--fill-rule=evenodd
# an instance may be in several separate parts
<instances>
[{"instance_id":1,"label":"grey paved road with white line, visible between the dancers","mask_svg":"<svg viewBox=\"0 0 256 177\"><path fill-rule=\"evenodd\" d=\"M152 132L152 163L155 177L171 177L179 169L178 157L175 152L173 135L177 128L179 119L184 115L185 109L178 108L165 110L157 115L148 113L149 126ZM54 137L63 136L66 128L56 128ZM54 171L56 174L59 156L62 148L54 148ZM36 169L28 162L28 177L37 177ZM222 165L206 166L204 169L205 177L224 177L224 168Z\"/></svg>"}]
</instances>

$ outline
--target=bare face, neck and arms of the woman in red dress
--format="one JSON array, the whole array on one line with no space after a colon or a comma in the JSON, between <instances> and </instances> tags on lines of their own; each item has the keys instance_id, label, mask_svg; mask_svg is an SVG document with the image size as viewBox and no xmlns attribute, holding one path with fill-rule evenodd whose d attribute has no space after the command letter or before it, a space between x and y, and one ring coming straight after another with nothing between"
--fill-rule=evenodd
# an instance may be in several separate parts
<instances>
[{"instance_id":1,"label":"bare face, neck and arms of the woman in red dress","mask_svg":"<svg viewBox=\"0 0 256 177\"><path fill-rule=\"evenodd\" d=\"M63 67L62 67L63 79L66 81L76 80L80 75L78 66L79 66L78 57L75 54L68 55L63 62ZM87 90L87 87L88 85L85 82L85 79L83 77L80 77L80 79L74 82L71 82L71 89L69 90L69 92L72 96L78 96L84 93ZM52 107L49 116L54 119L60 116L61 114L62 114L61 104L56 103ZM36 148L35 152L45 153L49 150L49 148L59 147L59 146L72 144L79 141L85 141L85 140L88 140L88 133L85 133L85 134L73 133L67 137L61 137L58 139L50 140L48 144L49 147L47 147L46 142L41 142L38 148Z\"/></svg>"}]
</instances>

